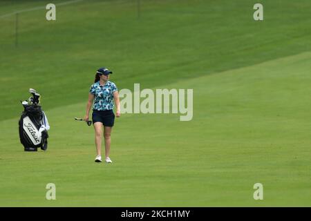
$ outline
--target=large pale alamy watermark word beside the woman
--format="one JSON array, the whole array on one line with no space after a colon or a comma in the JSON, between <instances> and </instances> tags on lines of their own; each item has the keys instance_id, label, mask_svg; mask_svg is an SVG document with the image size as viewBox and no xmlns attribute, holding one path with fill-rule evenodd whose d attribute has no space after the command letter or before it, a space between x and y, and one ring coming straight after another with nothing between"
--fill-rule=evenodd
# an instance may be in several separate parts
<instances>
[{"instance_id":1,"label":"large pale alamy watermark word beside the woman","mask_svg":"<svg viewBox=\"0 0 311 221\"><path fill-rule=\"evenodd\" d=\"M156 89L140 90L140 84L134 84L133 93L129 89L119 92L121 113L173 113L181 114L180 121L189 121L194 115L193 89Z\"/></svg>"}]
</instances>

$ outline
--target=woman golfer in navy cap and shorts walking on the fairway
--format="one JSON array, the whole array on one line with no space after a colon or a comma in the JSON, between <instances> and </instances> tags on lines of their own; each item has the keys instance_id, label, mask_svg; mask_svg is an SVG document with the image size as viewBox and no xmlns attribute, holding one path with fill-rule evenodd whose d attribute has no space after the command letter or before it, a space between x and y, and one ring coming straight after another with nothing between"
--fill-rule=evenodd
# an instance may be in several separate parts
<instances>
[{"instance_id":1,"label":"woman golfer in navy cap and shorts walking on the fairway","mask_svg":"<svg viewBox=\"0 0 311 221\"><path fill-rule=\"evenodd\" d=\"M97 157L95 162L102 162L102 128L104 126L105 140L105 162L112 163L109 158L111 145L111 129L115 122L115 114L113 113L113 99L117 106L117 117L120 117L120 100L117 87L113 82L109 81L109 74L112 74L107 68L100 68L95 75L94 84L90 88L88 94L88 104L86 105L85 121L88 121L88 115L93 105L92 121L95 129L95 145L97 149Z\"/></svg>"}]
</instances>

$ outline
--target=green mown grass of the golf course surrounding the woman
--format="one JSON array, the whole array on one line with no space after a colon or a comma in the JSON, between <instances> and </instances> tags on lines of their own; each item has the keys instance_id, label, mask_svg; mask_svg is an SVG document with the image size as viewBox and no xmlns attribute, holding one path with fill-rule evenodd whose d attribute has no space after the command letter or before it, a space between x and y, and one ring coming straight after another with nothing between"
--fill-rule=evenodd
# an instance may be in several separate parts
<instances>
[{"instance_id":1,"label":"green mown grass of the golf course surrounding the woman","mask_svg":"<svg viewBox=\"0 0 311 221\"><path fill-rule=\"evenodd\" d=\"M254 3L142 1L140 19L135 1L59 6L56 22L25 12L18 48L14 17L0 19L0 206L311 206L311 4L261 1L255 22ZM99 66L120 89L193 88L194 118L124 114L113 164L93 163L93 128L73 117ZM19 144L28 88L43 95L46 152Z\"/></svg>"}]
</instances>

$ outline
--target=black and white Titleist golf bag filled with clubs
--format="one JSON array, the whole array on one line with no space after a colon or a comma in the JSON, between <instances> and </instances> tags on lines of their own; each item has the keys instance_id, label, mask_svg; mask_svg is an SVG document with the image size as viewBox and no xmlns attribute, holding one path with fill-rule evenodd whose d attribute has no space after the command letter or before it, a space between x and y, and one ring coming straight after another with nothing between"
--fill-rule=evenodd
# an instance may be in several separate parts
<instances>
[{"instance_id":1,"label":"black and white Titleist golf bag filled with clubs","mask_svg":"<svg viewBox=\"0 0 311 221\"><path fill-rule=\"evenodd\" d=\"M19 119L19 139L24 146L24 151L37 151L39 147L46 151L50 129L48 119L41 110L41 106L38 105L40 95L32 88L29 92L32 94L29 99L30 103L21 102L24 110Z\"/></svg>"}]
</instances>

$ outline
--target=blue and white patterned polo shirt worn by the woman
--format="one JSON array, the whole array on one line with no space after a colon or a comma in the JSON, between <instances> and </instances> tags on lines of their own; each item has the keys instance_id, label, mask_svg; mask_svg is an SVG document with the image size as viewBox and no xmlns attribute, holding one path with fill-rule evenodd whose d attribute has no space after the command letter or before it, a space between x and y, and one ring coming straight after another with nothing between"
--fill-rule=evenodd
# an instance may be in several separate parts
<instances>
[{"instance_id":1,"label":"blue and white patterned polo shirt worn by the woman","mask_svg":"<svg viewBox=\"0 0 311 221\"><path fill-rule=\"evenodd\" d=\"M93 110L112 110L114 107L113 93L115 91L117 91L117 86L111 81L107 81L105 85L100 85L100 81L92 84L90 93L95 96Z\"/></svg>"}]
</instances>

